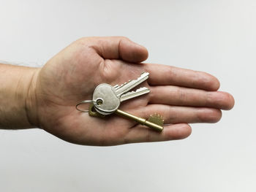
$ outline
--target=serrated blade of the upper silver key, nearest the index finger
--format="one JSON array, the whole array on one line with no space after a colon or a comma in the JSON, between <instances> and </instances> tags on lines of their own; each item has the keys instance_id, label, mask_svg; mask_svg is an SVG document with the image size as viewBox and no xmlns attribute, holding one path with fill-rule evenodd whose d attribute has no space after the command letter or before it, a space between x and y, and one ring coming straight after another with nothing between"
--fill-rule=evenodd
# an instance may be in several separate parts
<instances>
[{"instance_id":1,"label":"serrated blade of the upper silver key, nearest the index finger","mask_svg":"<svg viewBox=\"0 0 256 192\"><path fill-rule=\"evenodd\" d=\"M137 80L129 80L129 82L126 82L123 85L120 85L120 87L116 89L116 95L120 97L122 94L127 93L132 88L135 88L137 85L140 85L141 82L144 82L145 80L147 80L148 76L149 76L148 72L143 72L140 75L140 77L138 77Z\"/></svg>"}]
</instances>

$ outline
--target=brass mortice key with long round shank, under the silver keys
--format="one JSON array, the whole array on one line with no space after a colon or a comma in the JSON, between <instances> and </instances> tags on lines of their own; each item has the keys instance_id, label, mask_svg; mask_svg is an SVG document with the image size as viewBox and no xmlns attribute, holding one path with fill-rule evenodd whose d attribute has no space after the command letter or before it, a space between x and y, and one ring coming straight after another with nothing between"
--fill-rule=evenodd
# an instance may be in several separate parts
<instances>
[{"instance_id":1,"label":"brass mortice key with long round shank, under the silver keys","mask_svg":"<svg viewBox=\"0 0 256 192\"><path fill-rule=\"evenodd\" d=\"M162 120L160 115L151 115L148 120L144 118L138 118L135 115L129 114L128 112L124 112L122 110L116 110L116 115L119 115L124 118L128 118L130 120L134 120L137 123L140 123L140 125L147 126L149 128L154 129L155 131L162 131L164 120ZM105 118L105 115L100 114L96 110L94 110L94 104L90 104L89 107L89 115L97 118Z\"/></svg>"}]
</instances>

